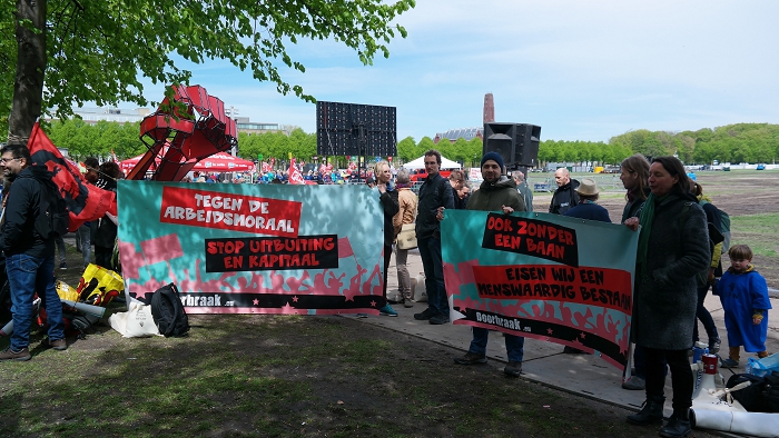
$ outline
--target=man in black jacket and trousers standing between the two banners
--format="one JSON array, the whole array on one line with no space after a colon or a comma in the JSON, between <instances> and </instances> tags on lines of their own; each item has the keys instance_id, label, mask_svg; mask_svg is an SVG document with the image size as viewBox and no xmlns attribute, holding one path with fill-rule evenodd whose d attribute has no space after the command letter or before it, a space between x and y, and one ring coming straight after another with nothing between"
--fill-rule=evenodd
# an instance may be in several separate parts
<instances>
[{"instance_id":1,"label":"man in black jacket and trousers standing between the two banners","mask_svg":"<svg viewBox=\"0 0 779 438\"><path fill-rule=\"evenodd\" d=\"M425 152L427 178L420 187L420 203L416 217L416 241L425 270L427 309L414 313L414 319L430 320L430 323L448 322L448 299L444 287L444 268L441 256L441 225L444 209L454 208L454 195L448 180L438 173L441 152L431 149Z\"/></svg>"}]
</instances>

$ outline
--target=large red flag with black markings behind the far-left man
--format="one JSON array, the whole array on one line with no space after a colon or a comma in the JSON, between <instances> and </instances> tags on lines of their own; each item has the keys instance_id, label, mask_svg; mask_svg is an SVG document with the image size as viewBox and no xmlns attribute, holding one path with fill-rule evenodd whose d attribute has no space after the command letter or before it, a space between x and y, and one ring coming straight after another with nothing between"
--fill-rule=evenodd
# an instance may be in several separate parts
<instances>
[{"instance_id":1,"label":"large red flag with black markings behind the far-left man","mask_svg":"<svg viewBox=\"0 0 779 438\"><path fill-rule=\"evenodd\" d=\"M69 231L76 231L83 222L102 218L106 212L117 216L116 193L88 185L78 167L62 158L38 122L32 127L27 148L32 165L46 166L52 175L51 181L59 187L70 212Z\"/></svg>"}]
</instances>

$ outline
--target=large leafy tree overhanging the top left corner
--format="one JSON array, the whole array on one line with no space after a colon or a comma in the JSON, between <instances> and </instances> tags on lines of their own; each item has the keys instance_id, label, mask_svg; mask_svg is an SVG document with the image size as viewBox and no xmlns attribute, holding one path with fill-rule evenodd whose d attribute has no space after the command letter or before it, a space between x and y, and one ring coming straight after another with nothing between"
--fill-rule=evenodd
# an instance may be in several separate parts
<instances>
[{"instance_id":1,"label":"large leafy tree overhanging the top left corner","mask_svg":"<svg viewBox=\"0 0 779 438\"><path fill-rule=\"evenodd\" d=\"M12 8L11 0L0 4ZM140 76L154 83L189 82L191 72L178 68L174 54L195 63L225 59L283 94L314 101L282 78L282 66L305 72L285 44L332 39L371 64L376 52L389 56L386 44L395 32L406 36L393 21L414 6L415 0L17 1L13 18L0 18L0 49L17 48L9 141L24 142L38 116L72 116L73 104L148 106ZM16 34L8 31L11 20ZM172 94L170 87L166 94ZM0 109L7 106L0 102Z\"/></svg>"}]
</instances>

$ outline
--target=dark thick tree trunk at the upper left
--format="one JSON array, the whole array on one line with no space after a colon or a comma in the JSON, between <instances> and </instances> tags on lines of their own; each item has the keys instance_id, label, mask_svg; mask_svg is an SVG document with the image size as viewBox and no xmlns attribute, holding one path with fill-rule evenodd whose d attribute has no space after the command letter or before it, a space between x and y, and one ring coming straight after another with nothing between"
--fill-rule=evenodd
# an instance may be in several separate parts
<instances>
[{"instance_id":1,"label":"dark thick tree trunk at the upper left","mask_svg":"<svg viewBox=\"0 0 779 438\"><path fill-rule=\"evenodd\" d=\"M17 0L17 76L13 103L8 119L8 142L27 145L36 119L41 115L46 72L47 0ZM37 31L19 22L30 20Z\"/></svg>"}]
</instances>

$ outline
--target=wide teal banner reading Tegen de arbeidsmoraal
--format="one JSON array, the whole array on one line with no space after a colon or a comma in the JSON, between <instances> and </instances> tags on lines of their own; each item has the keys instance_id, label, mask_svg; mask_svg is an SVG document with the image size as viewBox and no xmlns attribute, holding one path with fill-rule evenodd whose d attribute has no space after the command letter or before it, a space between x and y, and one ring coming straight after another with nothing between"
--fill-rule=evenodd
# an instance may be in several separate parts
<instances>
[{"instance_id":1,"label":"wide teal banner reading Tegen de arbeidsmoraal","mask_svg":"<svg viewBox=\"0 0 779 438\"><path fill-rule=\"evenodd\" d=\"M119 181L131 297L174 282L189 313L377 315L384 225L366 186Z\"/></svg>"}]
</instances>

